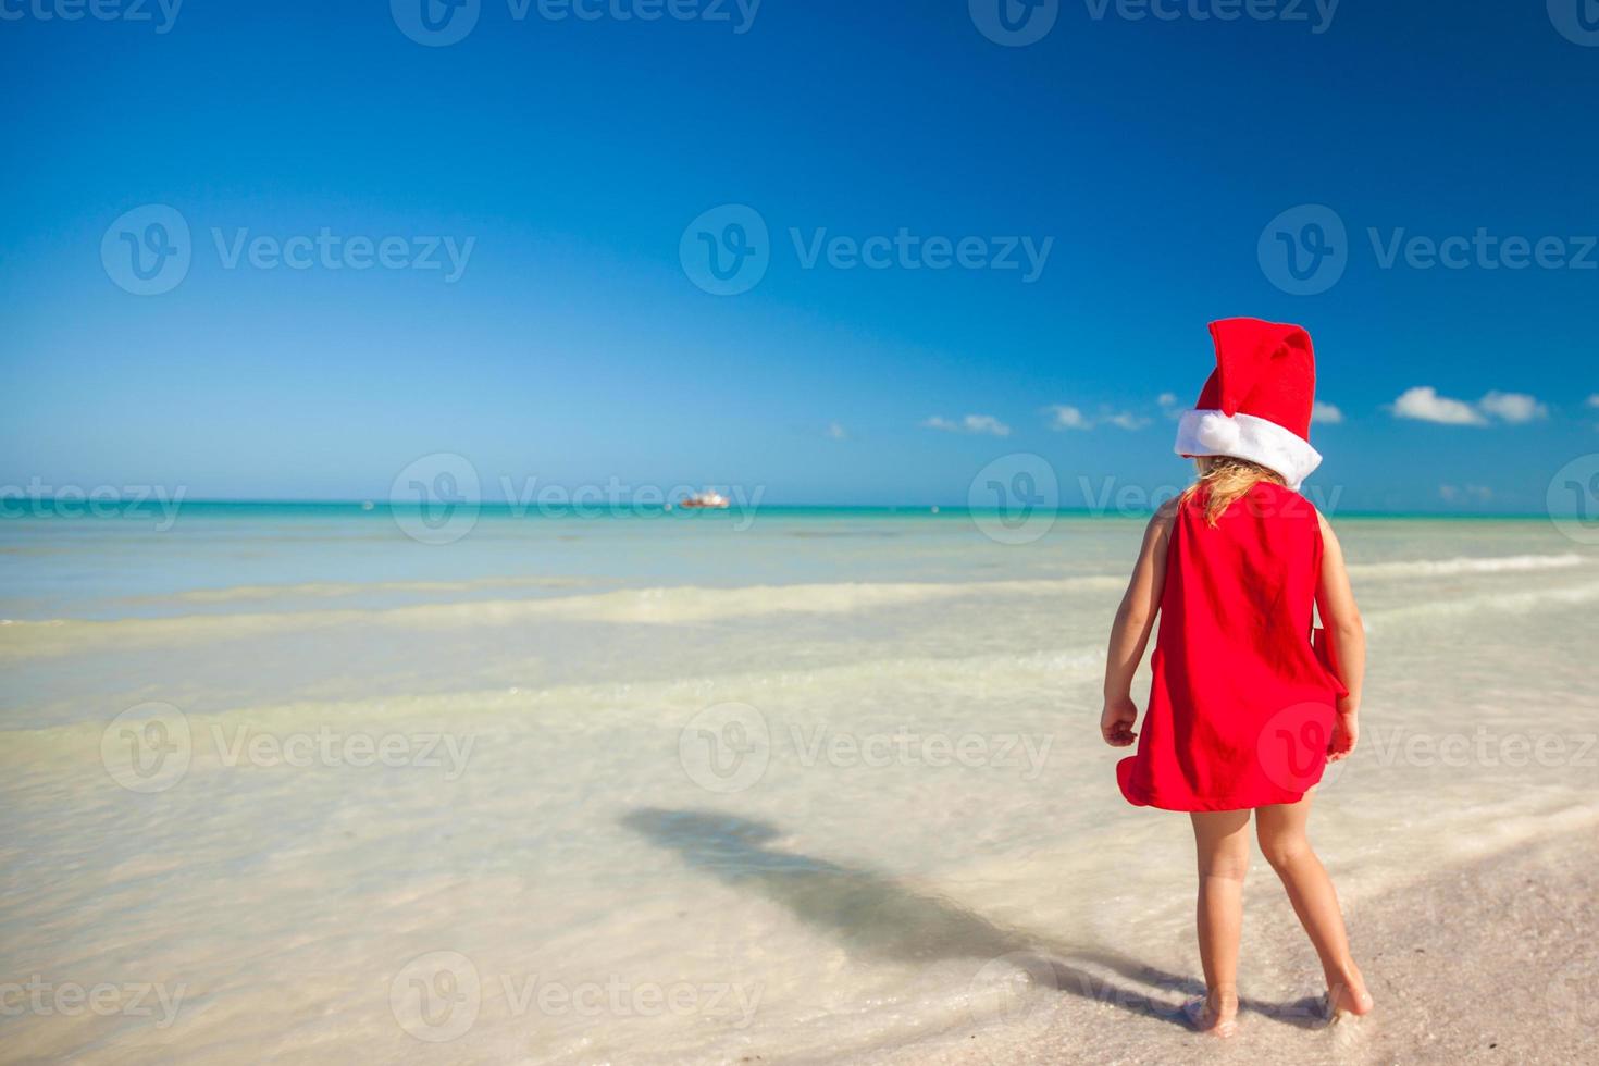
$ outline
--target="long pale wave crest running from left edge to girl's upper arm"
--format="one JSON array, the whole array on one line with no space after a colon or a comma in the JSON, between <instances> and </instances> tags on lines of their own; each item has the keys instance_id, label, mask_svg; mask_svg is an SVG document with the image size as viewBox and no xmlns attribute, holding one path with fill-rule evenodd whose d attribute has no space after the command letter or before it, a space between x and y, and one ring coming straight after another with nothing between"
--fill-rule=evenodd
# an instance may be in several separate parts
<instances>
[{"instance_id":1,"label":"long pale wave crest running from left edge to girl's upper arm","mask_svg":"<svg viewBox=\"0 0 1599 1066\"><path fill-rule=\"evenodd\" d=\"M285 611L275 614L182 615L90 622L0 620L0 660L69 655L104 647L165 647L329 626L462 628L537 620L683 625L776 614L854 614L878 607L940 603L966 596L1055 596L1121 590L1107 575L967 583L745 585L630 588L548 599L488 599L417 604L382 611Z\"/></svg>"}]
</instances>

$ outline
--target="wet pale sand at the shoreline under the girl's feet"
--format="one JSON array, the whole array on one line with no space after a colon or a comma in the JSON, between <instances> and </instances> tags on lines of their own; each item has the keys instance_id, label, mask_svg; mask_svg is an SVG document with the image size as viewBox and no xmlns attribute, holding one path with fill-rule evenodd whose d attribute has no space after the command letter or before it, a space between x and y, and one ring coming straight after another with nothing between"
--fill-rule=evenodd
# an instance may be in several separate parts
<instances>
[{"instance_id":1,"label":"wet pale sand at the shoreline under the girl's feet","mask_svg":"<svg viewBox=\"0 0 1599 1066\"><path fill-rule=\"evenodd\" d=\"M1019 980L1059 988L1043 1007L1011 999L985 1024L868 1061L1564 1066L1599 1055L1599 853L1591 833L1458 865L1346 906L1377 1010L1330 1026L1313 997L1316 959L1258 858L1250 881L1234 1039L1196 1034L1182 1020L1183 999L1201 989L1198 954L1183 975L1086 954L1022 965L1030 977ZM1252 961L1300 973L1302 986L1250 988Z\"/></svg>"}]
</instances>

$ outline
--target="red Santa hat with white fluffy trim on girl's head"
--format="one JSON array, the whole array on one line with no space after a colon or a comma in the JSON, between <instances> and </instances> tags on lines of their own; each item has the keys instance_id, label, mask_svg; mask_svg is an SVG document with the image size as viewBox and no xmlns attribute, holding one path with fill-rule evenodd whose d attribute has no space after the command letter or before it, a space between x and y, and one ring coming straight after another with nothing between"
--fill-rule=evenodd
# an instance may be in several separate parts
<instances>
[{"instance_id":1,"label":"red Santa hat with white fluffy trim on girl's head","mask_svg":"<svg viewBox=\"0 0 1599 1066\"><path fill-rule=\"evenodd\" d=\"M1223 318L1210 323L1215 371L1177 424L1178 455L1231 455L1282 475L1298 491L1321 465L1310 446L1316 353L1300 326Z\"/></svg>"}]
</instances>

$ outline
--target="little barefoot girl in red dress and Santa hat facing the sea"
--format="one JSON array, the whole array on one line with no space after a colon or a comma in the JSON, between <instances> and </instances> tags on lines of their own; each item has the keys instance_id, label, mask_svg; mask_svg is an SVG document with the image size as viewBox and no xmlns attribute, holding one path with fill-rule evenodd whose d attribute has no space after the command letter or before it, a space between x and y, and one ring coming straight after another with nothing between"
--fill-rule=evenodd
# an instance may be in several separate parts
<instances>
[{"instance_id":1,"label":"little barefoot girl in red dress and Santa hat facing the sea","mask_svg":"<svg viewBox=\"0 0 1599 1066\"><path fill-rule=\"evenodd\" d=\"M1372 1008L1332 881L1305 839L1326 764L1354 750L1366 638L1338 539L1298 495L1321 463L1310 336L1231 318L1210 337L1215 372L1177 430L1177 454L1196 460L1199 479L1145 532L1111 628L1100 734L1116 748L1138 740L1116 767L1129 802L1190 812L1206 997L1188 1013L1231 1036L1250 810L1321 957L1330 1010ZM1132 678L1156 614L1150 708L1134 734Z\"/></svg>"}]
</instances>

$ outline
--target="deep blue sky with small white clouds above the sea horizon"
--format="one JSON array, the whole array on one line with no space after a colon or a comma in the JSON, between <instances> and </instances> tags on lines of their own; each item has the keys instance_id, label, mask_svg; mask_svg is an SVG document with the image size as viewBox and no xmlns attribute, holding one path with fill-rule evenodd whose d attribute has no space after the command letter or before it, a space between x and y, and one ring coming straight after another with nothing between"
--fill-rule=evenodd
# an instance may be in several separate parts
<instances>
[{"instance_id":1,"label":"deep blue sky with small white clouds above the sea horizon","mask_svg":"<svg viewBox=\"0 0 1599 1066\"><path fill-rule=\"evenodd\" d=\"M467 0L430 46L421 2L0 3L0 484L365 499L457 452L491 497L948 503L1036 452L1073 503L1183 479L1161 396L1230 315L1314 336L1343 507L1535 511L1599 452L1575 0L1062 0L1025 46L988 0Z\"/></svg>"}]
</instances>

